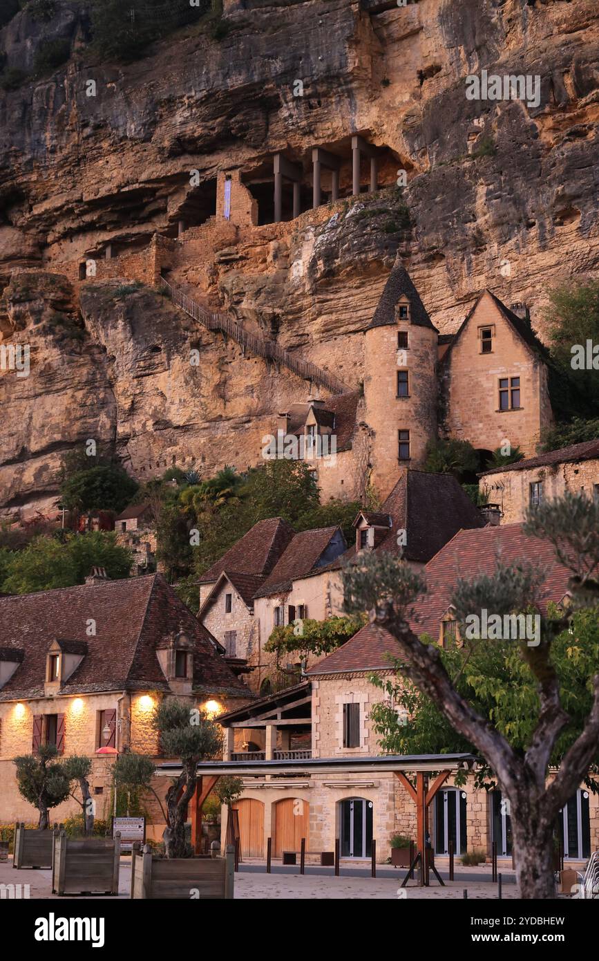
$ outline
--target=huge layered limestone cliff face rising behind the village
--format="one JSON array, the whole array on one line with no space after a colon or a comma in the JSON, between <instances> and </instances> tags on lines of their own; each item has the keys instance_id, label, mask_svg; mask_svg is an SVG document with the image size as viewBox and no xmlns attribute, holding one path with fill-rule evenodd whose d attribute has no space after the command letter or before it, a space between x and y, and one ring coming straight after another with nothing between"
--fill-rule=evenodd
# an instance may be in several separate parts
<instances>
[{"instance_id":1,"label":"huge layered limestone cliff face rising behind the village","mask_svg":"<svg viewBox=\"0 0 599 961\"><path fill-rule=\"evenodd\" d=\"M358 204L270 234L241 231L225 250L199 244L194 262L173 268L248 329L349 386L362 380L363 331L397 248L442 331L456 329L485 286L529 304L539 326L551 283L599 266L595 0L246 6L226 2L229 32L218 42L184 29L119 65L93 60L86 4L61 0L44 30L70 40L70 62L0 90L0 286L14 267L51 275L33 275L25 295L30 275L15 275L3 298L0 329L6 338L24 325L33 360L29 379L0 371L2 505L50 497L60 450L86 436L114 438L141 478L173 457L206 470L245 466L276 408L304 399L298 379L187 329L147 291L115 299L116 286L87 284L79 304L64 280L50 289L61 264L110 240L172 233L191 169L203 180L230 169L251 178L272 170L276 151L305 160L313 146L361 133L388 148L379 183L408 172L411 232L390 226L383 198L378 214ZM0 31L7 65L27 70L42 36L28 17ZM483 68L539 75L539 107L468 101L465 77ZM85 94L90 79L95 97ZM40 311L71 321L38 324ZM187 357L196 341L199 370Z\"/></svg>"}]
</instances>

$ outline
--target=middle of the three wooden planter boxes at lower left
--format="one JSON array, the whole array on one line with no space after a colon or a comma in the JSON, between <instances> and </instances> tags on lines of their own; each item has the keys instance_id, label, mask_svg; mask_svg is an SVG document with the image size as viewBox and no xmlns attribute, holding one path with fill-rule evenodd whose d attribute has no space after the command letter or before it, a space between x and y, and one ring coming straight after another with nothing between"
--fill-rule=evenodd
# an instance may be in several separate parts
<instances>
[{"instance_id":1,"label":"middle of the three wooden planter boxes at lower left","mask_svg":"<svg viewBox=\"0 0 599 961\"><path fill-rule=\"evenodd\" d=\"M52 893L118 895L121 835L114 838L68 838L54 842Z\"/></svg>"}]
</instances>

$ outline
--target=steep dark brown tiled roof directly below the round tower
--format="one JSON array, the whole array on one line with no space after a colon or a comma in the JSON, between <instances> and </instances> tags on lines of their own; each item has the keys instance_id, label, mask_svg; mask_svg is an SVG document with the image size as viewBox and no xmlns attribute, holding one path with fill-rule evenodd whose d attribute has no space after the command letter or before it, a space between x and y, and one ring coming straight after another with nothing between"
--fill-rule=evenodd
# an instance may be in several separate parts
<instances>
[{"instance_id":1,"label":"steep dark brown tiled roof directly below the round tower","mask_svg":"<svg viewBox=\"0 0 599 961\"><path fill-rule=\"evenodd\" d=\"M374 550L399 554L402 548L397 544L397 532L405 530L403 556L420 563L437 554L458 530L482 528L487 523L450 474L404 470L382 508L375 516L390 514L393 526ZM341 567L355 553L354 545L329 568Z\"/></svg>"}]
</instances>

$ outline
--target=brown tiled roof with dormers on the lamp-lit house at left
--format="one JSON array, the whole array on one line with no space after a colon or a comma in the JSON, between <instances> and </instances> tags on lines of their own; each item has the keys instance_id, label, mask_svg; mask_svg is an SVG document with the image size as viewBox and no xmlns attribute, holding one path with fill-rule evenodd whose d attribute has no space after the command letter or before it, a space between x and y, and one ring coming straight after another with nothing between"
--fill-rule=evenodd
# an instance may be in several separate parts
<instances>
[{"instance_id":1,"label":"brown tiled roof with dormers on the lamp-lit house at left","mask_svg":"<svg viewBox=\"0 0 599 961\"><path fill-rule=\"evenodd\" d=\"M87 635L89 619L96 633ZM79 667L61 694L156 689L168 683L156 657L165 637L184 630L195 642L194 686L251 697L248 688L216 653L209 633L160 574L108 580L0 599L3 646L24 650L22 663L0 690L0 701L44 695L51 643L70 638L86 645Z\"/></svg>"}]
</instances>

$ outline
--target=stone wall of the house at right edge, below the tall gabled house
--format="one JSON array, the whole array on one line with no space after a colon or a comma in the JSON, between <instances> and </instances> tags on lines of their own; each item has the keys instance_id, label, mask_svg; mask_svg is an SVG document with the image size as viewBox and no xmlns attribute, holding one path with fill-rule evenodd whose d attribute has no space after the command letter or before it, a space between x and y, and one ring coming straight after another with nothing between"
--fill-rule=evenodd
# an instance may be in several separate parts
<instances>
[{"instance_id":1,"label":"stone wall of the house at right edge, below the tall gabled house","mask_svg":"<svg viewBox=\"0 0 599 961\"><path fill-rule=\"evenodd\" d=\"M584 492L589 499L599 498L599 457L495 471L481 477L479 487L491 504L501 508L501 523L515 524L524 520L531 504L531 485L541 484L540 496L551 501L563 494ZM536 488L535 493L539 491Z\"/></svg>"}]
</instances>

